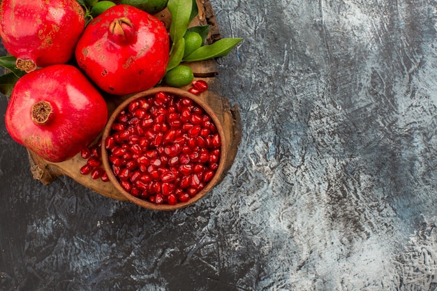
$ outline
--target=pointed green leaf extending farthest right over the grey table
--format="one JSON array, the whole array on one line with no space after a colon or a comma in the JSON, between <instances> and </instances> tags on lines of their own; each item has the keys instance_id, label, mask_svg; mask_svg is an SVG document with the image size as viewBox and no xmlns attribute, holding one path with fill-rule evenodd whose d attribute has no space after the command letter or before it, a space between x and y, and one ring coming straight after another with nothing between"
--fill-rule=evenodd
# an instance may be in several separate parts
<instances>
[{"instance_id":1,"label":"pointed green leaf extending farthest right over the grey table","mask_svg":"<svg viewBox=\"0 0 437 291\"><path fill-rule=\"evenodd\" d=\"M217 40L212 45L204 45L199 47L193 53L189 54L183 61L205 61L216 57L224 57L229 54L243 38L222 38Z\"/></svg>"}]
</instances>

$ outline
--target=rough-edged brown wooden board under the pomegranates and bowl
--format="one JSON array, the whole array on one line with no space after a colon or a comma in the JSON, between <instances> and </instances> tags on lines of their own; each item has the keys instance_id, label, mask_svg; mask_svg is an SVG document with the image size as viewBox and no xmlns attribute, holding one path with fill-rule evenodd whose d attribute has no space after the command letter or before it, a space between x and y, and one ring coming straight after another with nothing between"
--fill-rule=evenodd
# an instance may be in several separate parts
<instances>
[{"instance_id":1,"label":"rough-edged brown wooden board under the pomegranates and bowl","mask_svg":"<svg viewBox=\"0 0 437 291\"><path fill-rule=\"evenodd\" d=\"M218 30L214 11L212 10L211 3L204 0L196 0L198 3L199 14L198 17L193 20L191 25L209 25L210 31L207 39L207 43L214 43L214 41L221 38L220 31ZM157 13L155 15L159 19L163 20L166 27L170 27L171 15L167 9ZM219 84L216 79L218 74L215 61L201 61L187 63L186 66L190 66L195 75L195 80L205 80L208 83L209 89L200 94L200 98L205 100L212 110L217 114L218 119L221 120L225 131L225 146L228 148L228 156L225 161L225 170L223 171L221 179L225 176L226 172L232 166L232 163L237 155L239 142L242 138L242 126L239 114L239 108L237 106L231 107L230 103L225 97L218 96L215 91L218 91ZM191 86L184 87L182 89L188 89ZM126 100L128 96L105 96L108 103L109 114L112 114L113 110L122 101ZM80 174L80 168L87 163L87 160L82 158L80 154L77 154L71 160L61 163L51 163L40 158L34 152L28 150L30 170L34 179L38 179L42 184L47 185L52 183L54 179L60 176L68 176L77 181L77 183L90 188L92 191L104 195L105 197L114 198L117 200L126 200L126 198L117 191L117 189L108 181L103 182L101 179L91 179L90 175ZM220 181L221 181L220 179Z\"/></svg>"}]
</instances>

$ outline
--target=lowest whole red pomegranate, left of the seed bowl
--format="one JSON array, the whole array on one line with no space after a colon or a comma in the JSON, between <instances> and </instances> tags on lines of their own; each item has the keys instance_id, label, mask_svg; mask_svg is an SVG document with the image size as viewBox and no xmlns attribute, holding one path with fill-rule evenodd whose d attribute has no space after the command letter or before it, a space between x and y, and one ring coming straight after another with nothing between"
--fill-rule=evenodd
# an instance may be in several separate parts
<instances>
[{"instance_id":1,"label":"lowest whole red pomegranate, left of the seed bowl","mask_svg":"<svg viewBox=\"0 0 437 291\"><path fill-rule=\"evenodd\" d=\"M18 80L6 108L6 130L16 142L50 162L75 156L103 130L108 107L74 66L34 70Z\"/></svg>"}]
</instances>

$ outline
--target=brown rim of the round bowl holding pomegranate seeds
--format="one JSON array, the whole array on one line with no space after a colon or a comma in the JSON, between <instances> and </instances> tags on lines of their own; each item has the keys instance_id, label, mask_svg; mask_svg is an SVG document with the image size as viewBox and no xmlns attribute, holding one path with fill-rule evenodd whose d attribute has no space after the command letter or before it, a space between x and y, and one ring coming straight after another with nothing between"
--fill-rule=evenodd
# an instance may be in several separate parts
<instances>
[{"instance_id":1,"label":"brown rim of the round bowl holding pomegranate seeds","mask_svg":"<svg viewBox=\"0 0 437 291\"><path fill-rule=\"evenodd\" d=\"M138 99L138 98L145 98L145 97L147 98L147 97L153 96L154 94L161 92L161 91L168 93L168 94L174 94L175 96L179 96L179 97L190 98L195 103L200 105L200 107L202 107L202 109L205 110L205 112L207 114L209 114L212 121L214 121L214 124L216 125L218 134L220 135L220 138L221 138L220 161L218 163L218 168L216 170L216 173L214 174L214 177L212 177L212 179L207 183L207 185L205 186L205 188L202 189L202 191L198 192L194 197L191 197L190 200L188 200L187 202L178 202L175 205L151 203L147 200L140 199L138 197L134 197L133 195L131 195L131 193L128 193L127 191L125 191L124 188L121 187L121 185L119 184L119 181L115 177L114 172L112 172L112 167L110 166L110 162L108 160L108 149L105 148L105 140L110 135L111 130L112 130L112 124L117 119L117 116L120 114L120 112L125 110L126 107L128 106L128 104L131 103L133 100ZM221 124L221 121L220 121L220 119L218 119L214 110L212 110L211 107L209 107L209 105L207 105L207 103L205 103L205 101L203 101L198 96L195 96L194 94L191 94L190 92L183 90L183 89L173 88L173 87L154 87L152 89L148 89L146 91L139 92L139 93L129 97L128 99L124 100L124 102L121 103L114 110L114 112L112 112L110 118L108 119L108 123L106 124L105 129L103 130L103 135L102 135L101 149L102 149L103 167L105 168L105 171L108 174L108 178L110 179L111 183L114 185L115 188L117 188L117 190L121 193L121 195L126 197L127 200L129 200L137 205L140 205L141 207L145 207L147 209L152 209L152 210L171 211L171 210L181 209L181 208L187 207L188 205L193 204L194 202L200 200L202 197L205 197L205 195L207 195L207 193L209 193L209 191L211 191L212 188L214 188L218 184L218 180L221 178L221 175L223 174L223 170L225 168L226 156L228 154L228 152L227 152L228 149L225 146L226 142L227 141L225 140L225 133L224 133L224 129L223 129L223 124Z\"/></svg>"}]
</instances>

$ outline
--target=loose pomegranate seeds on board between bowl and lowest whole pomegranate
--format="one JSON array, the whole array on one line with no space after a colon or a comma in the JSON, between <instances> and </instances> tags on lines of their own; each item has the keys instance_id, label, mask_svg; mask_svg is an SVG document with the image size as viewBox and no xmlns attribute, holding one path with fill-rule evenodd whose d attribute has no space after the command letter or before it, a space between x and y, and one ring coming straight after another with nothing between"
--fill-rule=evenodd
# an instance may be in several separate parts
<instances>
[{"instance_id":1,"label":"loose pomegranate seeds on board between bowl and lowest whole pomegranate","mask_svg":"<svg viewBox=\"0 0 437 291\"><path fill-rule=\"evenodd\" d=\"M90 174L91 178L101 179L104 182L108 182L108 174L103 170L101 159L101 140L90 147L84 147L80 151L80 156L87 160L87 163L80 168L80 174Z\"/></svg>"}]
</instances>

